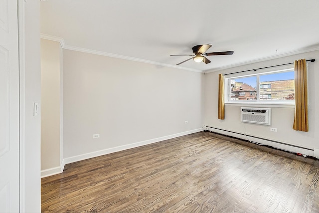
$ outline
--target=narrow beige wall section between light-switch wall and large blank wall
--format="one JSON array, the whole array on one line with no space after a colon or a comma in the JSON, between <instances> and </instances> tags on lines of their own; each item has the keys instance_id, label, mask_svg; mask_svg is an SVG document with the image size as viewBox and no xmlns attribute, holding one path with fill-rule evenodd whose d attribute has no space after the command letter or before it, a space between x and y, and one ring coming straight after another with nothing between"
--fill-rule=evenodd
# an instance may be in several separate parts
<instances>
[{"instance_id":1,"label":"narrow beige wall section between light-switch wall and large blank wall","mask_svg":"<svg viewBox=\"0 0 319 213\"><path fill-rule=\"evenodd\" d=\"M41 176L61 172L61 49L60 42L41 39Z\"/></svg>"}]
</instances>

